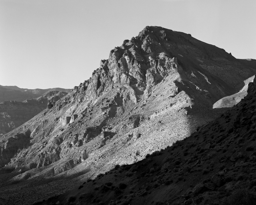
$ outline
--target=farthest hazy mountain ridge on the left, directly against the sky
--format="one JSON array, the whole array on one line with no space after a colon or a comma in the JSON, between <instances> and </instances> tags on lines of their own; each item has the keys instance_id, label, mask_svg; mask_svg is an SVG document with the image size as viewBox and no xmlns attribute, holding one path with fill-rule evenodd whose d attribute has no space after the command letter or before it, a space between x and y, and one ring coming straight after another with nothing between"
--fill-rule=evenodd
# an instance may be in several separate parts
<instances>
[{"instance_id":1,"label":"farthest hazy mountain ridge on the left, directly against the sky","mask_svg":"<svg viewBox=\"0 0 256 205\"><path fill-rule=\"evenodd\" d=\"M26 89L17 86L0 85L0 102L4 101L19 101L38 98L45 95L49 91L69 92L71 89L64 88L48 88L48 89Z\"/></svg>"}]
</instances>

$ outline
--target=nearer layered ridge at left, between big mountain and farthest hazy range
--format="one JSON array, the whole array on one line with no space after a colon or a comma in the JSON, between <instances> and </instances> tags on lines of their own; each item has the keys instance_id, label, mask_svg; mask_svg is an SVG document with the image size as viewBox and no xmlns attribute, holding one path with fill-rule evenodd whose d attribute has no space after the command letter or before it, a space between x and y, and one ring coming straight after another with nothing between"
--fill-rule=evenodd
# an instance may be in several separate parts
<instances>
[{"instance_id":1,"label":"nearer layered ridge at left, between big mountain and farthest hazy range","mask_svg":"<svg viewBox=\"0 0 256 205\"><path fill-rule=\"evenodd\" d=\"M62 91L48 91L36 99L23 102L4 101L0 103L0 134L6 134L14 128L29 121L47 108L49 102L54 103L65 96Z\"/></svg>"}]
</instances>

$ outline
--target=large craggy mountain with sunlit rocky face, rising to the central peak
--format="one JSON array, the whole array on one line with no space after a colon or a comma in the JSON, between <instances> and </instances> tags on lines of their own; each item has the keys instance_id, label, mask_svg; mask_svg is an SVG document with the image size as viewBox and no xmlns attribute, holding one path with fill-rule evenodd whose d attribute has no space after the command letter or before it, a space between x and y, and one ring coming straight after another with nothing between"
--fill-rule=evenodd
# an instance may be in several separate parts
<instances>
[{"instance_id":1,"label":"large craggy mountain with sunlit rocky face, rising to the central peak","mask_svg":"<svg viewBox=\"0 0 256 205\"><path fill-rule=\"evenodd\" d=\"M255 73L256 60L147 26L89 80L0 138L1 200L33 204L143 160L215 120L229 106L214 103Z\"/></svg>"}]
</instances>

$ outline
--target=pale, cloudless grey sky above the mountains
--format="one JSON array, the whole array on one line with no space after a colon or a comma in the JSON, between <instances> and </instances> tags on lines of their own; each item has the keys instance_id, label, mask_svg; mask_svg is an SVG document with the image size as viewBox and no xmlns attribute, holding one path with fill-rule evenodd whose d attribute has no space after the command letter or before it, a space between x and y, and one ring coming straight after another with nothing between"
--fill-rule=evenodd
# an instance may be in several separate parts
<instances>
[{"instance_id":1,"label":"pale, cloudless grey sky above the mountains","mask_svg":"<svg viewBox=\"0 0 256 205\"><path fill-rule=\"evenodd\" d=\"M0 85L73 88L146 26L256 59L255 0L0 0Z\"/></svg>"}]
</instances>

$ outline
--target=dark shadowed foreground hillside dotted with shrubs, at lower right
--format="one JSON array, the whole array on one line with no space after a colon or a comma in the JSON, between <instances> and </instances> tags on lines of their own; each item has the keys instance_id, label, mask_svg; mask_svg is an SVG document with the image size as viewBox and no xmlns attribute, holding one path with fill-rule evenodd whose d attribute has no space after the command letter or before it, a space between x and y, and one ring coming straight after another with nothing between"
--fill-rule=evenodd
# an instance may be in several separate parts
<instances>
[{"instance_id":1,"label":"dark shadowed foreground hillside dotted with shrubs, at lower right","mask_svg":"<svg viewBox=\"0 0 256 205\"><path fill-rule=\"evenodd\" d=\"M256 204L256 78L190 137L37 204Z\"/></svg>"}]
</instances>

